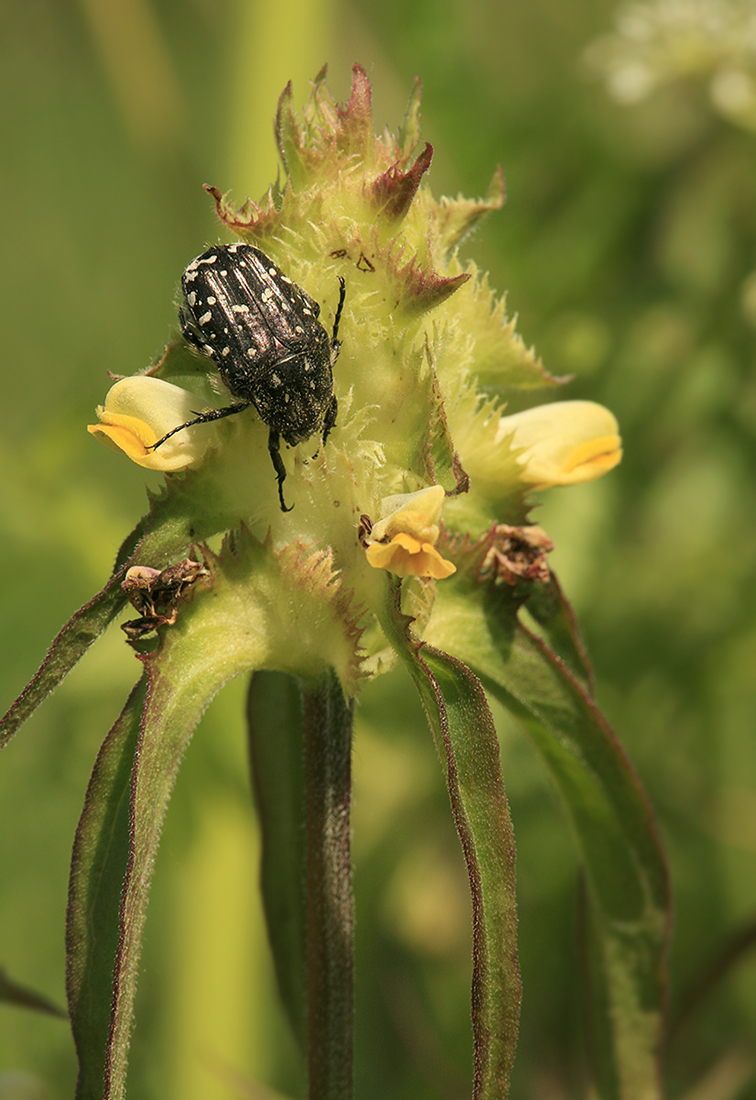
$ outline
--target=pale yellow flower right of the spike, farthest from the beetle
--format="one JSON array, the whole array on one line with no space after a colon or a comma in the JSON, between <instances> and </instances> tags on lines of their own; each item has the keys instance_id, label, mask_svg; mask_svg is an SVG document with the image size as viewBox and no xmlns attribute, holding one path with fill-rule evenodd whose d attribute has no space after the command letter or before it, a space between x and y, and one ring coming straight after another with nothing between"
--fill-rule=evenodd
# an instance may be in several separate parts
<instances>
[{"instance_id":1,"label":"pale yellow flower right of the spike, farthest from the beetle","mask_svg":"<svg viewBox=\"0 0 756 1100\"><path fill-rule=\"evenodd\" d=\"M503 416L495 441L506 437L524 449L521 479L534 488L593 481L622 459L617 421L594 402L555 402Z\"/></svg>"}]
</instances>

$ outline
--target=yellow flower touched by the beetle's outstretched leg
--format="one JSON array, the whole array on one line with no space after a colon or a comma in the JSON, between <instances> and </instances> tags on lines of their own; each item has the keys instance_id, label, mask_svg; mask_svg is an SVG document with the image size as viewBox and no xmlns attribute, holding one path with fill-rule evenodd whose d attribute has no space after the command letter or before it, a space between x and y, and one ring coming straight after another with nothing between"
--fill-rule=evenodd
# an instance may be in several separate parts
<instances>
[{"instance_id":1,"label":"yellow flower touched by the beetle's outstretched leg","mask_svg":"<svg viewBox=\"0 0 756 1100\"><path fill-rule=\"evenodd\" d=\"M105 406L97 407L100 424L88 425L87 431L147 470L185 470L199 462L212 442L211 425L195 425L177 432L158 450L151 448L204 407L205 402L187 389L140 374L121 378L108 391Z\"/></svg>"}]
</instances>

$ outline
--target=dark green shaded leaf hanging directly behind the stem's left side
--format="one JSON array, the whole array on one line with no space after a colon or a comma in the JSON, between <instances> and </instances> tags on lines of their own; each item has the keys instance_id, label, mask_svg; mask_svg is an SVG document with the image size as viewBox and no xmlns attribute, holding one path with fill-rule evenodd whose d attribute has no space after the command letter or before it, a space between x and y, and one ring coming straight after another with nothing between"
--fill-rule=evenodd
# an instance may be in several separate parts
<instances>
[{"instance_id":1,"label":"dark green shaded leaf hanging directly behind the stem's left side","mask_svg":"<svg viewBox=\"0 0 756 1100\"><path fill-rule=\"evenodd\" d=\"M285 672L255 672L246 717L267 936L278 992L305 1054L305 729L298 681Z\"/></svg>"}]
</instances>

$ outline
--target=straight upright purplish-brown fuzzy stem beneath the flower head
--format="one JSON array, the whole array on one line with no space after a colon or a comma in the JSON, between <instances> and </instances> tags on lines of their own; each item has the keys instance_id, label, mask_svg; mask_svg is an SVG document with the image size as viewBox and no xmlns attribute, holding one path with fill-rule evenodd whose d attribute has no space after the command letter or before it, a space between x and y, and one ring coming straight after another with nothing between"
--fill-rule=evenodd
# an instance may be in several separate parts
<instances>
[{"instance_id":1,"label":"straight upright purplish-brown fuzzy stem beneath the flower head","mask_svg":"<svg viewBox=\"0 0 756 1100\"><path fill-rule=\"evenodd\" d=\"M307 1063L309 1100L351 1100L352 703L331 672L305 682Z\"/></svg>"}]
</instances>

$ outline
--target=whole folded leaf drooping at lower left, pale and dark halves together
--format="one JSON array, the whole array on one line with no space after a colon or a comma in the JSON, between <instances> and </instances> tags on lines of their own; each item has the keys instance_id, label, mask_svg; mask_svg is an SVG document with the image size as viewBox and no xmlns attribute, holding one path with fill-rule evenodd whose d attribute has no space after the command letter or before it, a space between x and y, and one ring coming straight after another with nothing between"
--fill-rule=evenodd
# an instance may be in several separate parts
<instances>
[{"instance_id":1,"label":"whole folded leaf drooping at lower left, pale and dark halves together","mask_svg":"<svg viewBox=\"0 0 756 1100\"><path fill-rule=\"evenodd\" d=\"M142 658L146 676L100 750L77 833L67 931L77 1100L124 1096L142 932L171 790L202 712L250 656L229 668L212 604L193 624L194 609L183 608L160 649Z\"/></svg>"}]
</instances>

